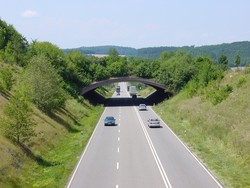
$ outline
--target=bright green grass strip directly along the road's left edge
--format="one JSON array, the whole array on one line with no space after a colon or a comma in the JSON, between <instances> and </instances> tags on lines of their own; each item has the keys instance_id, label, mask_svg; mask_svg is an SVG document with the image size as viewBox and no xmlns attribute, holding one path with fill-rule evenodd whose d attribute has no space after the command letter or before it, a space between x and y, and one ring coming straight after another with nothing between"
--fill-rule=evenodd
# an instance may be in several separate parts
<instances>
[{"instance_id":1,"label":"bright green grass strip directly along the road's left edge","mask_svg":"<svg viewBox=\"0 0 250 188\"><path fill-rule=\"evenodd\" d=\"M74 169L84 147L86 146L101 115L102 108L95 108L88 112L88 117L83 118L82 128L77 133L63 136L57 147L42 154L43 158L52 165L43 166L34 163L28 167L29 177L27 186L32 187L64 187L72 170Z\"/></svg>"}]
</instances>

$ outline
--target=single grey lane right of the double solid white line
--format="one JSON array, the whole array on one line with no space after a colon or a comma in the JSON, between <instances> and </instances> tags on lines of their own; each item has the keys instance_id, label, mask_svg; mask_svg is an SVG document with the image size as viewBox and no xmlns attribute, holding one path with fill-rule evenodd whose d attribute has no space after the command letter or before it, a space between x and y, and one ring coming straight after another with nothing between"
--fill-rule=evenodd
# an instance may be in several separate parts
<instances>
[{"instance_id":1,"label":"single grey lane right of the double solid white line","mask_svg":"<svg viewBox=\"0 0 250 188\"><path fill-rule=\"evenodd\" d=\"M140 112L140 117L147 125L149 117L158 117L158 115L151 108L148 108L147 112ZM146 127L172 187L221 188L219 182L191 154L190 150L171 129L163 121L161 123L161 128Z\"/></svg>"}]
</instances>

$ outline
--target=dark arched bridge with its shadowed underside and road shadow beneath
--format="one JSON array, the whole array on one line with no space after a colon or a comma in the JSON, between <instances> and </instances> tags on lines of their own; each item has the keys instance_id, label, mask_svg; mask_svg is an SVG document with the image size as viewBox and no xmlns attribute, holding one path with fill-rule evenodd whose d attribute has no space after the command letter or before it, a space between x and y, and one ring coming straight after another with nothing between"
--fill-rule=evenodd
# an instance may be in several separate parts
<instances>
[{"instance_id":1,"label":"dark arched bridge with its shadowed underside and road shadow beneath","mask_svg":"<svg viewBox=\"0 0 250 188\"><path fill-rule=\"evenodd\" d=\"M142 98L137 98L130 100L128 99L106 99L99 93L95 92L95 89L98 87L107 85L107 84L112 84L112 83L117 83L117 82L139 82L139 83L144 83L146 85L152 86L153 88L156 89L154 93L152 93L150 96L148 96L146 99ZM93 83L87 87L84 87L80 94L85 98L88 99L92 104L104 104L104 105L112 105L112 106L125 106L125 105L137 105L140 103L146 103L147 105L153 105L157 104L166 98L169 98L173 96L173 92L168 91L167 88L159 84L157 82L154 82L152 80L148 79L143 79L143 78L130 78L130 77L120 77L120 78L111 78L107 80L103 80L100 82Z\"/></svg>"}]
</instances>

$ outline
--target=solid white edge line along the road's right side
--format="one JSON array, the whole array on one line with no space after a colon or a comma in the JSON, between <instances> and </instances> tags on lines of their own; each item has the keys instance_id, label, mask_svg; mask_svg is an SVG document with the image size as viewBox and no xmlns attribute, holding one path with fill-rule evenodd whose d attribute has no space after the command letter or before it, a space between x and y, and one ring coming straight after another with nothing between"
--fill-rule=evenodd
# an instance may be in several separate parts
<instances>
[{"instance_id":1,"label":"solid white edge line along the road's right side","mask_svg":"<svg viewBox=\"0 0 250 188\"><path fill-rule=\"evenodd\" d=\"M201 167L209 174L209 176L218 184L220 188L223 188L221 183L215 178L215 176L205 167L205 165L199 160L197 156L195 156L191 150L186 146L186 144L174 133L174 131L162 120L160 116L150 107L152 112L163 122L163 124L170 130L170 132L177 138L177 140L186 148L186 150L194 157L194 159L201 165Z\"/></svg>"}]
</instances>

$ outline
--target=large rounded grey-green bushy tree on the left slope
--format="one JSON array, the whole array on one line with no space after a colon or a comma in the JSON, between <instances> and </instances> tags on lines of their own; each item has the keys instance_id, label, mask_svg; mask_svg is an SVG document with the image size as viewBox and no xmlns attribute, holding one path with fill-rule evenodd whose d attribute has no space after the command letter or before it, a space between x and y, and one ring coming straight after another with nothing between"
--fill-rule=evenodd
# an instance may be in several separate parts
<instances>
[{"instance_id":1,"label":"large rounded grey-green bushy tree on the left slope","mask_svg":"<svg viewBox=\"0 0 250 188\"><path fill-rule=\"evenodd\" d=\"M29 95L42 111L57 110L64 105L66 93L56 69L43 55L31 59L22 81L29 87Z\"/></svg>"}]
</instances>

